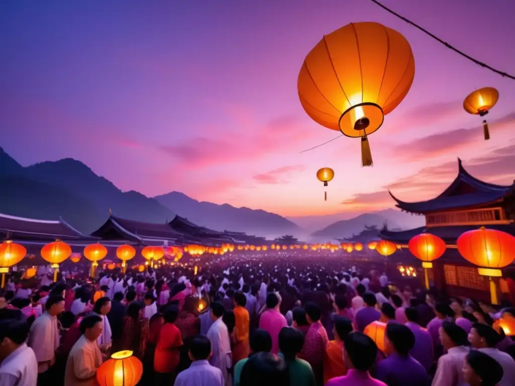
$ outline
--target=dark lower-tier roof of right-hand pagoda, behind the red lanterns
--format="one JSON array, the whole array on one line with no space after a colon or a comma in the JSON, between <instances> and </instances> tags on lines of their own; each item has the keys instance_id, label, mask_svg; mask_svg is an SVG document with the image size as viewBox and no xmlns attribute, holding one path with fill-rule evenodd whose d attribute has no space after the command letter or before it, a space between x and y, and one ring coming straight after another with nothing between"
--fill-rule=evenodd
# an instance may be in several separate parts
<instances>
[{"instance_id":1,"label":"dark lower-tier roof of right-hand pagoda, behind the red lanterns","mask_svg":"<svg viewBox=\"0 0 515 386\"><path fill-rule=\"evenodd\" d=\"M389 240L396 244L407 244L409 240L421 233L431 233L432 235L440 237L446 244L455 245L456 240L461 234L477 229L477 225L458 225L458 226L421 226L408 231L393 232L383 230L381 231L381 238ZM515 236L515 224L495 224L488 225L488 229L506 232Z\"/></svg>"}]
</instances>

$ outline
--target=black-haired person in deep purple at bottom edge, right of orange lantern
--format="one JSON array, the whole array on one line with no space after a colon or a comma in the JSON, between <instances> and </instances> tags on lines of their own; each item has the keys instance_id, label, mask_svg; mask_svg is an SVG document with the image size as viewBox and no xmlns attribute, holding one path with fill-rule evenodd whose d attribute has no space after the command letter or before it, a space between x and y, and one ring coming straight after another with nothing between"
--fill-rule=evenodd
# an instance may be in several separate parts
<instances>
[{"instance_id":1,"label":"black-haired person in deep purple at bottom edge, right of orange lantern","mask_svg":"<svg viewBox=\"0 0 515 386\"><path fill-rule=\"evenodd\" d=\"M431 378L409 352L415 335L407 326L389 323L385 331L385 360L376 364L375 378L388 386L430 386Z\"/></svg>"}]
</instances>

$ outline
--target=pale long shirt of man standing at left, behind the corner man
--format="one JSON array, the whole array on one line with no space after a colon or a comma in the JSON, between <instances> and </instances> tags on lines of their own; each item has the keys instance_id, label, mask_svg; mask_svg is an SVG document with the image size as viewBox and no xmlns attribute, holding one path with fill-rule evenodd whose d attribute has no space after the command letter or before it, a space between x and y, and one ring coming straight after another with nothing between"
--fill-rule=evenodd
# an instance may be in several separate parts
<instances>
[{"instance_id":1,"label":"pale long shirt of man standing at left, behind the corner man","mask_svg":"<svg viewBox=\"0 0 515 386\"><path fill-rule=\"evenodd\" d=\"M44 373L56 360L59 347L59 329L57 317L44 312L30 326L28 345L34 350L38 360L38 373Z\"/></svg>"}]
</instances>

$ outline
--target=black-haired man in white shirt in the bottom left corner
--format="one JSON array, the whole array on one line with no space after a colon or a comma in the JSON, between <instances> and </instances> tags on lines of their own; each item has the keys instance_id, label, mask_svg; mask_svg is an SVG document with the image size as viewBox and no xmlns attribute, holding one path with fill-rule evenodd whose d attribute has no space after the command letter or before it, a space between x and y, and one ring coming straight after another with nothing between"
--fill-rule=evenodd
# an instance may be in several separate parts
<instances>
[{"instance_id":1,"label":"black-haired man in white shirt in the bottom left corner","mask_svg":"<svg viewBox=\"0 0 515 386\"><path fill-rule=\"evenodd\" d=\"M27 340L27 323L14 319L0 321L0 385L36 386L38 360Z\"/></svg>"}]
</instances>

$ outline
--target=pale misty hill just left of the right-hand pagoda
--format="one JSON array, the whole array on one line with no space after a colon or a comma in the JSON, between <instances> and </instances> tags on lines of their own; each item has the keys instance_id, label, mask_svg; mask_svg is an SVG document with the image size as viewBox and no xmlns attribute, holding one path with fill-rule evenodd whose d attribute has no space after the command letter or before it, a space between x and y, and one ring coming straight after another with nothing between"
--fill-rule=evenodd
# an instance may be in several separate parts
<instances>
[{"instance_id":1,"label":"pale misty hill just left of the right-hand pagoda","mask_svg":"<svg viewBox=\"0 0 515 386\"><path fill-rule=\"evenodd\" d=\"M387 209L377 213L364 213L348 220L336 221L312 234L314 238L349 238L362 232L366 226L377 226L379 229L386 222L390 230L411 229L423 225L423 217L417 217L419 224L411 223L406 226L403 219L405 214L400 210ZM402 223L399 223L401 222ZM402 225L401 225L402 224ZM415 225L415 226L414 226Z\"/></svg>"}]
</instances>

